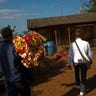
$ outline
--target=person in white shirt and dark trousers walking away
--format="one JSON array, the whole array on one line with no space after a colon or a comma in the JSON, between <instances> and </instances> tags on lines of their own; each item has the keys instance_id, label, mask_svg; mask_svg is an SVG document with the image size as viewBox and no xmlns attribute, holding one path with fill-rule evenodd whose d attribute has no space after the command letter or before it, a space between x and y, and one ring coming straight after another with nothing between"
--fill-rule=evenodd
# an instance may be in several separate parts
<instances>
[{"instance_id":1,"label":"person in white shirt and dark trousers walking away","mask_svg":"<svg viewBox=\"0 0 96 96\"><path fill-rule=\"evenodd\" d=\"M83 56L89 61L93 59L93 53L90 45L87 41L81 39L81 29L77 28L75 32L75 41L79 46ZM71 63L74 63L75 72L75 87L80 89L80 96L83 96L86 91L86 77L87 68L84 60L76 46L75 42L72 42L68 52L68 68L71 68ZM81 80L80 80L81 79Z\"/></svg>"}]
</instances>

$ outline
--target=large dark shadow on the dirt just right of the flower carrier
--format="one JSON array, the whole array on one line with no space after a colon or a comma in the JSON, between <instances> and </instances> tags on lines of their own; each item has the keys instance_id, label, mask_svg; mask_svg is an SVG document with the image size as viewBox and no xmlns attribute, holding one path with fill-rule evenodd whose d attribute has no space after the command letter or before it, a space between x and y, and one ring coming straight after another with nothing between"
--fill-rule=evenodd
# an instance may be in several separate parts
<instances>
[{"instance_id":1,"label":"large dark shadow on the dirt just right of the flower carrier","mask_svg":"<svg viewBox=\"0 0 96 96\"><path fill-rule=\"evenodd\" d=\"M62 73L61 68L64 68L66 63L44 58L40 61L38 67L32 71L33 82L32 85L49 81L50 77L59 75ZM64 71L63 71L64 72Z\"/></svg>"}]
</instances>

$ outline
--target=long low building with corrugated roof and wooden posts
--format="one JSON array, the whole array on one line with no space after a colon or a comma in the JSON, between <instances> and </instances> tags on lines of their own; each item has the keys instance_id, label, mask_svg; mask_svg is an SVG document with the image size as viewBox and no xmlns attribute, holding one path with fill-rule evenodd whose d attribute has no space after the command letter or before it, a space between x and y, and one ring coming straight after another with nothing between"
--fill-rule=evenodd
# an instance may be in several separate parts
<instances>
[{"instance_id":1,"label":"long low building with corrugated roof and wooden posts","mask_svg":"<svg viewBox=\"0 0 96 96\"><path fill-rule=\"evenodd\" d=\"M96 12L27 20L28 30L54 41L56 48L69 47L76 27L81 27L83 39L96 47Z\"/></svg>"}]
</instances>

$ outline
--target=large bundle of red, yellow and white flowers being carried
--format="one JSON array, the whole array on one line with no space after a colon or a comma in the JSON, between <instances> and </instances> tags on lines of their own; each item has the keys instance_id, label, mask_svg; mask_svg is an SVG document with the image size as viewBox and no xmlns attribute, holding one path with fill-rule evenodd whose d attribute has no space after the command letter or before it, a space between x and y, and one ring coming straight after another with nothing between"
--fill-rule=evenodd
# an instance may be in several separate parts
<instances>
[{"instance_id":1,"label":"large bundle of red, yellow and white flowers being carried","mask_svg":"<svg viewBox=\"0 0 96 96\"><path fill-rule=\"evenodd\" d=\"M38 33L15 36L13 43L16 52L23 58L22 63L27 68L38 66L39 60L43 56L42 38Z\"/></svg>"}]
</instances>

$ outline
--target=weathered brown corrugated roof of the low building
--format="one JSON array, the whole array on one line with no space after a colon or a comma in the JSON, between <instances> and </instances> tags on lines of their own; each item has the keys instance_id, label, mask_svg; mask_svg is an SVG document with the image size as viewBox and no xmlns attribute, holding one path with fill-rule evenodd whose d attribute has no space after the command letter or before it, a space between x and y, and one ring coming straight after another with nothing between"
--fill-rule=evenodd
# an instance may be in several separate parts
<instances>
[{"instance_id":1,"label":"weathered brown corrugated roof of the low building","mask_svg":"<svg viewBox=\"0 0 96 96\"><path fill-rule=\"evenodd\" d=\"M28 29L30 28L32 29L32 28L47 27L47 26L54 26L54 25L88 23L88 22L96 22L96 12L74 14L69 16L28 19L27 27Z\"/></svg>"}]
</instances>

